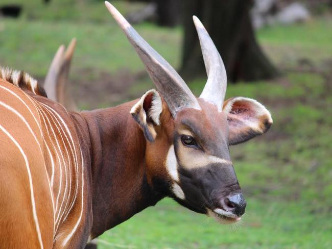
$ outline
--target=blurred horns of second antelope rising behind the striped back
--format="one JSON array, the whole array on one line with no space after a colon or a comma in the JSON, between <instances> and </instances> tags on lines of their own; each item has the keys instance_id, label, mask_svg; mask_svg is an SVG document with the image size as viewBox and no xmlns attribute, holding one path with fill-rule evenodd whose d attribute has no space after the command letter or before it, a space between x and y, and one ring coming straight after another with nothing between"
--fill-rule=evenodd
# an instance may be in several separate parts
<instances>
[{"instance_id":1,"label":"blurred horns of second antelope rising behind the striped back","mask_svg":"<svg viewBox=\"0 0 332 249\"><path fill-rule=\"evenodd\" d=\"M65 49L64 45L58 48L44 82L44 89L48 98L62 104L70 111L77 110L67 84L70 62L73 58L75 46L76 39L74 38L70 41L67 49Z\"/></svg>"}]
</instances>

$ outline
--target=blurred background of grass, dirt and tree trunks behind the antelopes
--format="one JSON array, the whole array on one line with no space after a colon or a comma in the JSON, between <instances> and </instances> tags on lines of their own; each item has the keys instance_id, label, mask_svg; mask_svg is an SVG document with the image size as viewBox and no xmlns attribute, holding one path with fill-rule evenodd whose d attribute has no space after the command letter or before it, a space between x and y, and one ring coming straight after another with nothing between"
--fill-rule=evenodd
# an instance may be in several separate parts
<instances>
[{"instance_id":1,"label":"blurred background of grass, dirt and tree trunks behind the antelopes","mask_svg":"<svg viewBox=\"0 0 332 249\"><path fill-rule=\"evenodd\" d=\"M257 99L270 131L231 147L247 200L223 226L166 198L105 232L99 248L332 248L332 1L114 0L189 87L205 68L197 15L228 75L227 96ZM43 82L76 37L68 90L80 109L114 106L154 88L101 0L0 0L0 64Z\"/></svg>"}]
</instances>

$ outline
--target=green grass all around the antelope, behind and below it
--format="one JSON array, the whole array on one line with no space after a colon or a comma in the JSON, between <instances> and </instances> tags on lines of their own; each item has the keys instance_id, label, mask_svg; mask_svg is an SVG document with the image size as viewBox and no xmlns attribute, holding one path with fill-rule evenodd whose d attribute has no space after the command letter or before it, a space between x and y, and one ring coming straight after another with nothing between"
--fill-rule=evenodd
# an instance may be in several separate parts
<instances>
[{"instance_id":1,"label":"green grass all around the antelope, behind and below it","mask_svg":"<svg viewBox=\"0 0 332 249\"><path fill-rule=\"evenodd\" d=\"M76 37L70 74L75 89L98 82L103 72L115 77L123 68L133 74L144 70L102 1L64 5L64 0L59 0L39 8L40 1L18 2L26 6L23 17L0 20L0 64L42 79L57 47ZM115 6L128 12L139 8L123 1L116 1ZM332 247L331 24L330 18L313 18L304 24L259 31L259 42L284 75L268 82L228 86L227 97L255 98L271 110L274 119L266 135L231 147L248 203L241 224L221 226L166 198L105 232L100 248ZM135 28L165 59L179 66L180 28L147 23ZM299 61L305 65L299 66ZM292 70L295 67L310 70ZM189 85L199 94L205 81L197 79ZM102 99L110 93L98 91L100 87L92 86L97 89L94 102L109 106L111 102ZM151 87L151 81L141 77L124 89L121 99L138 97ZM92 106L82 99L82 107Z\"/></svg>"}]
</instances>

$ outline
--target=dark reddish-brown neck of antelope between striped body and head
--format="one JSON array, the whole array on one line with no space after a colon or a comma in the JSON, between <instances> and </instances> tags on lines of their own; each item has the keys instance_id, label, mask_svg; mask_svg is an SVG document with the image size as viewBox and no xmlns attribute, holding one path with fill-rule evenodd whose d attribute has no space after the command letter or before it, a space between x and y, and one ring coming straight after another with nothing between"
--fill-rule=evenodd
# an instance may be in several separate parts
<instances>
[{"instance_id":1,"label":"dark reddish-brown neck of antelope between striped body and head","mask_svg":"<svg viewBox=\"0 0 332 249\"><path fill-rule=\"evenodd\" d=\"M90 144L92 238L163 197L147 181L146 140L129 113L134 103L72 113L74 119L85 121L88 129L88 135L80 139L81 144Z\"/></svg>"}]
</instances>

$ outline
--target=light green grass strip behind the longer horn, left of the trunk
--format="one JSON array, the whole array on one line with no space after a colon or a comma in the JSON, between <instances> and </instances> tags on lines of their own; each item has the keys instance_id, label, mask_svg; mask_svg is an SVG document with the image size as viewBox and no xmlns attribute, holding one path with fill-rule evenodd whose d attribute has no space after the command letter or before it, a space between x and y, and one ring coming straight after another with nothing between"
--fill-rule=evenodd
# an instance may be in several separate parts
<instances>
[{"instance_id":1,"label":"light green grass strip behind the longer horn, left of the trunk","mask_svg":"<svg viewBox=\"0 0 332 249\"><path fill-rule=\"evenodd\" d=\"M114 73L124 67L133 72L144 70L134 49L123 32L115 26L111 16L108 24L27 19L7 19L0 23L3 27L0 31L0 64L21 68L36 77L45 76L59 45L67 45L73 37L78 40L73 76L82 68L97 70L89 76L92 80L100 71ZM179 60L174 55L180 53L179 30L159 29L151 24L144 24L137 27L137 31L149 40L165 59L178 65ZM169 46L172 47L172 53L169 53ZM20 57L15 56L17 53Z\"/></svg>"}]
</instances>

